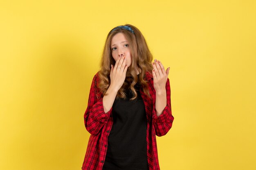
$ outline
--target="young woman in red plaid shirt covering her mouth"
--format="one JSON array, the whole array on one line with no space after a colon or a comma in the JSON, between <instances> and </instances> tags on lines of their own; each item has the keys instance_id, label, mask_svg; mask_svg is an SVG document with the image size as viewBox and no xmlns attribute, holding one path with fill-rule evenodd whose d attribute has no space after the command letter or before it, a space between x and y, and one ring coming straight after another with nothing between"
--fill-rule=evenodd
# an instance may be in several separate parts
<instances>
[{"instance_id":1,"label":"young woman in red plaid shirt covering her mouth","mask_svg":"<svg viewBox=\"0 0 256 170\"><path fill-rule=\"evenodd\" d=\"M91 135L82 170L160 170L155 135L165 135L174 117L170 68L152 59L135 26L108 33L84 113Z\"/></svg>"}]
</instances>

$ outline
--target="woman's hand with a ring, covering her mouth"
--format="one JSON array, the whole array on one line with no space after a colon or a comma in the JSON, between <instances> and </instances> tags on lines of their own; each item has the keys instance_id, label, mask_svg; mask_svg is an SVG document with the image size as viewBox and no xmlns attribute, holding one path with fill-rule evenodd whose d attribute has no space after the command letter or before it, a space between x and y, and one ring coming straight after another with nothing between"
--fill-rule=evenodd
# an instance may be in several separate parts
<instances>
[{"instance_id":1,"label":"woman's hand with a ring, covering her mouth","mask_svg":"<svg viewBox=\"0 0 256 170\"><path fill-rule=\"evenodd\" d=\"M121 56L117 59L115 67L113 67L111 64L110 86L116 91L118 91L124 84L127 68L124 54L121 54Z\"/></svg>"}]
</instances>

